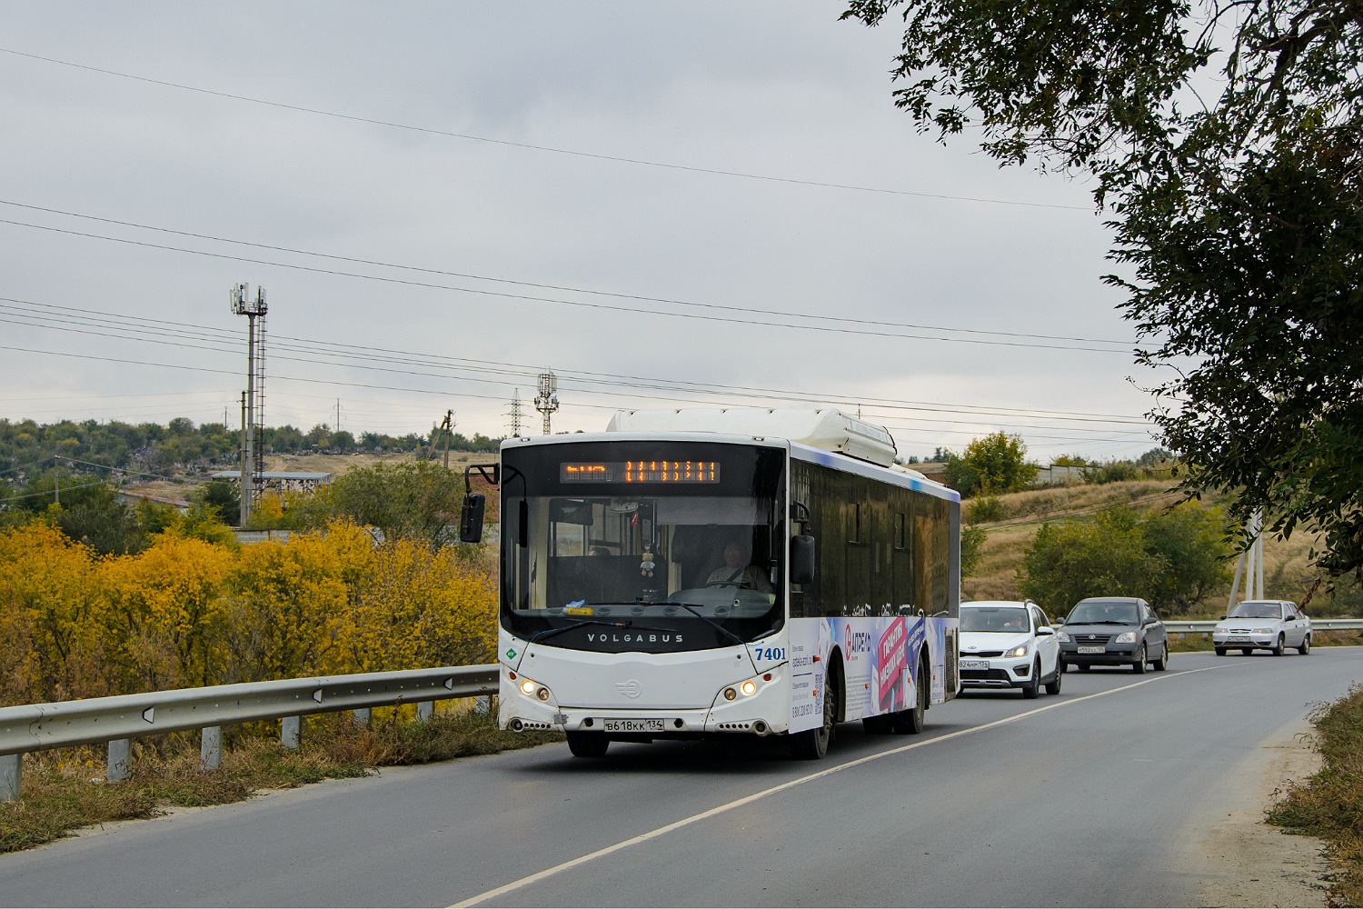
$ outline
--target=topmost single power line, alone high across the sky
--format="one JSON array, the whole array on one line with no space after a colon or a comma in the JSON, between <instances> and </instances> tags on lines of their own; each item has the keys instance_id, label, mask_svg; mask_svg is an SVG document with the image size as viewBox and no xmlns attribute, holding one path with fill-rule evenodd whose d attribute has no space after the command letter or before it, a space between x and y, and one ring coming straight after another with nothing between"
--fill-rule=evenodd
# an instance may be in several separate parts
<instances>
[{"instance_id":1,"label":"topmost single power line, alone high across the sky","mask_svg":"<svg viewBox=\"0 0 1363 909\"><path fill-rule=\"evenodd\" d=\"M1060 204L1060 203L1054 203L1054 202L1015 202L1015 200L1010 200L1010 199L985 199L985 198L977 198L977 196L953 196L953 195L938 194L938 192L915 192L915 191L909 191L909 189L889 189L889 188L883 188L883 187L861 187L861 185L848 184L848 183L831 183L831 181L823 181L823 180L801 180L801 179L797 179L797 177L777 177L777 176L773 176L773 174L747 173L747 172L743 172L743 170L724 170L724 169L720 169L720 168L699 168L699 166L694 166L694 165L669 164L669 162L662 162L662 161L649 161L649 159L645 159L645 158L630 158L630 157L624 157L624 155L601 154L601 153L594 153L594 151L579 151L579 150L575 150L575 149L559 149L559 147L553 147L553 146L534 144L534 143L530 143L530 142L512 142L510 139L493 139L491 136L480 136L480 135L476 135L476 134L472 134L472 132L455 132L453 129L435 129L435 128L431 128L431 127L418 127L418 125L413 125L413 124L408 124L408 123L395 123L395 121L391 121L391 120L379 120L379 119L373 119L373 117L361 117L361 116L349 114L349 113L339 113L337 110L324 110L322 108L307 108L307 106L296 105L296 104L285 104L282 101L269 101L266 98L254 98L254 97L249 97L249 95L233 94L230 91L217 91L214 89L200 89L198 86L188 86L188 84L183 84L183 83L179 83L179 82L169 82L166 79L153 79L153 78L149 78L149 76L138 76L138 75L132 75L129 72L119 72L117 70L104 70L101 67L91 67L91 65L82 64L82 63L71 63L70 60L57 60L56 57L44 57L44 56L40 56L40 55L35 55L35 53L25 53L22 50L12 50L10 48L0 48L0 52L10 53L10 55L14 55L16 57L26 57L29 60L41 60L42 63L52 63L52 64L61 65L61 67L71 67L72 70L85 70L87 72L98 72L98 74L106 75L106 76L117 76L120 79L131 79L134 82L143 82L143 83L147 83L147 84L164 86L164 87L168 87L168 89L177 89L180 91L194 91L196 94L211 95L211 97L215 97L215 98L229 98L232 101L245 101L245 102L249 102L249 104L259 104L259 105L264 105L267 108L277 108L277 109L281 109L281 110L294 110L297 113L309 113L309 114L315 114L315 116L319 116L319 117L331 117L334 120L345 120L345 121L349 121L349 123L364 123L364 124L368 124L368 125L388 127L388 128L393 128L393 129L406 129L406 131L410 131L410 132L421 132L421 134L433 135L433 136L448 136L451 139L468 139L470 142L484 142L484 143L488 143L488 144L496 144L496 146L503 146L503 147L510 147L510 149L525 149L525 150L530 150L530 151L548 151L548 153L552 153L552 154L571 155L571 157L575 157L575 158L589 158L589 159L593 159L593 161L612 161L612 162L616 162L616 164L632 164L632 165L639 165L639 166L646 166L646 168L660 168L660 169L664 169L664 170L679 170L679 172L686 172L686 173L701 173L701 174L718 176L718 177L736 177L736 179L740 179L740 180L759 180L759 181L763 181L763 183L781 183L781 184L800 185L800 187L818 187L818 188L822 188L822 189L844 189L844 191L851 191L851 192L871 192L871 194L878 194L878 195L912 196L912 198L919 198L919 199L942 199L942 200L946 200L946 202L976 202L976 203L985 203L985 204L1018 206L1018 207L1026 207L1026 209L1060 209L1060 210L1066 210L1066 211L1093 211L1088 206L1067 206L1067 204Z\"/></svg>"}]
</instances>

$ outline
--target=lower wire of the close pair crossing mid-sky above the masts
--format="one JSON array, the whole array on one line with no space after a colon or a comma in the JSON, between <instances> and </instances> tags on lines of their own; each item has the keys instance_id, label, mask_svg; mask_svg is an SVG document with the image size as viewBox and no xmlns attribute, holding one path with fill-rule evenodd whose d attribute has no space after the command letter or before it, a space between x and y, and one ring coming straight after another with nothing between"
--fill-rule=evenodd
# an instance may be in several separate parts
<instances>
[{"instance_id":1,"label":"lower wire of the close pair crossing mid-sky above the masts","mask_svg":"<svg viewBox=\"0 0 1363 909\"><path fill-rule=\"evenodd\" d=\"M386 275L364 274L364 273L360 273L360 271L342 271L339 268L320 268L320 267L316 267L316 266L304 266L304 264L297 264L297 263L290 263L290 262L275 262L275 260L271 260L271 259L252 259L251 256L236 256L236 255L229 255L229 253L225 253L225 252L209 252L209 251L204 251L204 249L189 249L187 247L173 247L173 245L161 244L161 243L147 243L144 240L131 240L131 238L127 238L127 237L110 237L110 236L106 236L106 234L90 233L90 232L85 232L85 230L70 230L70 229L65 229L65 228L53 228L53 226L49 226L49 225L29 224L26 221L15 221L12 218L0 218L0 224L8 224L8 225L12 225L12 226L16 226L16 228L30 228L33 230L45 230L48 233L60 233L60 234L72 236L72 237L85 237L87 240L105 240L105 241L109 241L109 243L121 243L121 244L125 244L125 245L140 247L140 248L144 248L144 249L161 249L161 251L165 251L165 252L183 252L183 253L187 253L187 255L206 256L206 258L210 258L210 259L222 259L222 260L226 260L226 262L243 262L243 263L249 263L249 264L273 266L275 268L289 268L289 270L293 270L293 271L305 271L308 274L324 274L324 275L331 275L331 277L338 277L338 278L354 278L354 279L358 279L358 281L375 281L375 282L379 282L379 283L394 283L394 285L401 285L401 286L408 286L408 288L424 288L424 289L428 289L428 290L450 290L450 292L454 292L454 293L469 293L469 294L484 296L484 297L499 297L499 298L503 298L503 300L518 300L518 301L523 301L523 303L548 303L548 304L552 304L552 305L579 307L579 308L585 308L585 309L605 309L605 311L611 311L611 312L627 312L627 313L631 313L631 315L653 315L653 316L664 316L664 318L669 318L669 319L692 319L692 320L699 320L699 322L720 322L720 323L726 323L726 324L761 326L763 328L792 328L792 330L796 330L796 331L819 331L819 333L830 333L830 334L861 335L861 337L871 337L871 338L900 338L900 339L905 339L905 341L938 341L938 342L949 342L949 343L975 343L975 345L988 345L988 346L999 346L999 348L1026 348L1026 349L1039 349L1039 350L1077 350L1077 352L1088 352L1088 353L1120 353L1120 354L1130 354L1131 353L1130 349L1119 349L1119 348L1086 348L1086 346L1078 346L1078 345L1026 343L1026 342L1021 342L1021 341L987 341L987 339L983 339L983 338L951 338L951 337L942 337L942 335L912 334L912 333L902 333L902 331L871 331L868 328L838 328L838 327L833 327L833 326L812 326L812 324L800 324L800 323L792 323L792 322L770 322L770 320L761 320L761 319L739 319L739 318L732 318L732 316L703 315L703 313L698 313L698 312L667 312L667 311L662 311L662 309L645 309L645 308L639 308L639 307L624 307L624 305L613 305L613 304L607 304L607 303L587 303L585 300L564 300L564 298L560 298L560 297L541 297L541 296L526 294L526 293L511 293L511 292L507 292L507 290L491 290L491 289L487 289L487 288L463 288L463 286L457 286L457 285L438 283L438 282L433 282L433 281L414 281L412 278L394 278L394 277L386 277ZM402 266L391 266L391 267L399 267L401 268ZM721 307L718 304L680 304L679 303L676 305L714 307L716 309L724 309L724 311L729 311L729 312L755 312L755 311L740 309L737 307ZM803 316L803 315L799 315L799 313L789 313L786 318L793 318L793 319L823 319L825 316ZM887 324L893 326L893 323L887 323ZM966 330L961 330L961 328L935 328L935 330L936 331L966 331ZM969 330L969 331L973 331L973 330ZM1109 342L1099 342L1099 343L1109 343Z\"/></svg>"}]
</instances>

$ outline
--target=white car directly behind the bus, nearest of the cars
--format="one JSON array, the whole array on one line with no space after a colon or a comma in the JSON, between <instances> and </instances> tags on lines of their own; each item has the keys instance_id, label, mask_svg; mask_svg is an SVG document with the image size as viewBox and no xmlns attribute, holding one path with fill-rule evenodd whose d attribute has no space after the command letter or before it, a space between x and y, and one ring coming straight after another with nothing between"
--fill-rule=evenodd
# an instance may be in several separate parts
<instances>
[{"instance_id":1,"label":"white car directly behind the bus, nearest of the cars","mask_svg":"<svg viewBox=\"0 0 1363 909\"><path fill-rule=\"evenodd\" d=\"M1021 688L1035 698L1060 694L1060 642L1041 606L1030 600L961 604L962 688Z\"/></svg>"}]
</instances>

